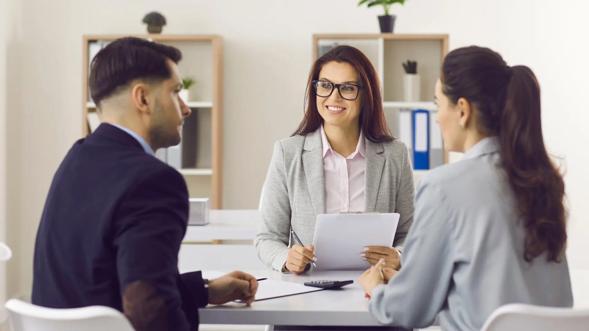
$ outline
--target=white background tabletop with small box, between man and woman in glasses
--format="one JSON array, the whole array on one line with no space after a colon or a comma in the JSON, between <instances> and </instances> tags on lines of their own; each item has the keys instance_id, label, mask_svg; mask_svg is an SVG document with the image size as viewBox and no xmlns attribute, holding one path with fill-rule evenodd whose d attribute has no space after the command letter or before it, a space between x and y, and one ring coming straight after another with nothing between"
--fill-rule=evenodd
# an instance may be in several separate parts
<instances>
[{"instance_id":1,"label":"white background tabletop with small box, between man and woman in glasses","mask_svg":"<svg viewBox=\"0 0 589 331\"><path fill-rule=\"evenodd\" d=\"M211 210L210 224L188 226L184 242L211 240L254 240L262 223L257 209Z\"/></svg>"}]
</instances>

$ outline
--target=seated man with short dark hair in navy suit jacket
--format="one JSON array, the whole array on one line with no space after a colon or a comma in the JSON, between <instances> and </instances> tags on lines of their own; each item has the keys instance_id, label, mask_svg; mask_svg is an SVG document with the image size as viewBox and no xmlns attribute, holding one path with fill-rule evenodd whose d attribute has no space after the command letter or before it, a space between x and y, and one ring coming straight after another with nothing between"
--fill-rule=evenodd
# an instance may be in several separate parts
<instances>
[{"instance_id":1,"label":"seated man with short dark hair in navy suit jacket","mask_svg":"<svg viewBox=\"0 0 589 331\"><path fill-rule=\"evenodd\" d=\"M32 303L110 306L136 330L198 328L198 307L254 300L257 282L233 272L203 280L178 273L188 191L154 157L180 143L190 108L178 49L121 38L91 65L90 93L102 124L77 141L49 189L35 244Z\"/></svg>"}]
</instances>

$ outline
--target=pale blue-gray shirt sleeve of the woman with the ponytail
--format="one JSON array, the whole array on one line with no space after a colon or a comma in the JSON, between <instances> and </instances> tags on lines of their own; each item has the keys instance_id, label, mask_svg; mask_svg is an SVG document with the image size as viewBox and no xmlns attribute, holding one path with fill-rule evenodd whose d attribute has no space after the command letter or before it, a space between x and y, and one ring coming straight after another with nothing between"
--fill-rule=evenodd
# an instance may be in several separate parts
<instances>
[{"instance_id":1,"label":"pale blue-gray shirt sleeve of the woman with the ponytail","mask_svg":"<svg viewBox=\"0 0 589 331\"><path fill-rule=\"evenodd\" d=\"M446 302L454 269L455 226L441 191L422 183L401 270L388 284L373 290L368 306L385 325L429 326Z\"/></svg>"}]
</instances>

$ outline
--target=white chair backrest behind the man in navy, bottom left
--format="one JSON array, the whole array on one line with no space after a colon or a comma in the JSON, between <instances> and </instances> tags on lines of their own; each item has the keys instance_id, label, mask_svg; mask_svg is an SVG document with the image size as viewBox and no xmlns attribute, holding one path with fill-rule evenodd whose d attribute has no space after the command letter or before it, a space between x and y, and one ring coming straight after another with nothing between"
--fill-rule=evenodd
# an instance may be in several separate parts
<instances>
[{"instance_id":1,"label":"white chair backrest behind the man in navy, bottom left","mask_svg":"<svg viewBox=\"0 0 589 331\"><path fill-rule=\"evenodd\" d=\"M12 331L133 331L127 317L111 307L52 309L11 299L6 309Z\"/></svg>"}]
</instances>

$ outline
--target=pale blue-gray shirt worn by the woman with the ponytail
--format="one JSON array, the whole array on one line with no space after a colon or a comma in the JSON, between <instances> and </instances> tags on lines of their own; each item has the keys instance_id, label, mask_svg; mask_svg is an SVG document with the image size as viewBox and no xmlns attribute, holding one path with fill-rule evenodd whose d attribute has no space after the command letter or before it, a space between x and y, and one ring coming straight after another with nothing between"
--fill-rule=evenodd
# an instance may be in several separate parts
<instances>
[{"instance_id":1,"label":"pale blue-gray shirt worn by the woman with the ponytail","mask_svg":"<svg viewBox=\"0 0 589 331\"><path fill-rule=\"evenodd\" d=\"M438 315L442 330L474 331L504 304L573 306L566 257L524 260L525 229L498 152L497 138L485 138L419 181L403 267L372 291L380 323L426 327Z\"/></svg>"}]
</instances>

